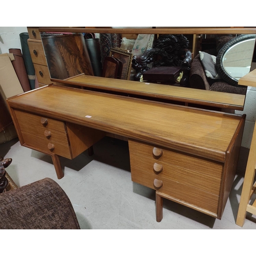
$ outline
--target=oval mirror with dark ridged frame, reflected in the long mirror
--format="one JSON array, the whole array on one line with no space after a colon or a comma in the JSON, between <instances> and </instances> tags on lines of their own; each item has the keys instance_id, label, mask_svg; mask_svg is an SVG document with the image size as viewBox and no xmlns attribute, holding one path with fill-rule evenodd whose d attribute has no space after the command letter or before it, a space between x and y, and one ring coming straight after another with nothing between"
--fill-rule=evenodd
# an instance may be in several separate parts
<instances>
[{"instance_id":1,"label":"oval mirror with dark ridged frame, reflected in the long mirror","mask_svg":"<svg viewBox=\"0 0 256 256\"><path fill-rule=\"evenodd\" d=\"M228 41L219 51L217 69L232 86L238 86L238 80L250 72L254 45L255 35L240 35Z\"/></svg>"}]
</instances>

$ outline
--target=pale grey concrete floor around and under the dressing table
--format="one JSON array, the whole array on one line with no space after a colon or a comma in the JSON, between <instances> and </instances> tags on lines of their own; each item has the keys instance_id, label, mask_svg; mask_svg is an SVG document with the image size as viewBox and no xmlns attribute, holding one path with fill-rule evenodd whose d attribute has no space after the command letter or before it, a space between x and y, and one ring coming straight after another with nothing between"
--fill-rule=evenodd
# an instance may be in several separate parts
<instances>
[{"instance_id":1,"label":"pale grey concrete floor around and under the dressing table","mask_svg":"<svg viewBox=\"0 0 256 256\"><path fill-rule=\"evenodd\" d=\"M45 177L67 193L81 229L256 229L247 214L243 228L236 218L243 184L237 175L222 220L178 203L163 201L163 220L156 222L155 190L132 182L127 142L105 137L73 160L60 158L65 176L58 180L51 157L20 146L18 139L0 145L0 156L12 158L6 168L17 186Z\"/></svg>"}]
</instances>

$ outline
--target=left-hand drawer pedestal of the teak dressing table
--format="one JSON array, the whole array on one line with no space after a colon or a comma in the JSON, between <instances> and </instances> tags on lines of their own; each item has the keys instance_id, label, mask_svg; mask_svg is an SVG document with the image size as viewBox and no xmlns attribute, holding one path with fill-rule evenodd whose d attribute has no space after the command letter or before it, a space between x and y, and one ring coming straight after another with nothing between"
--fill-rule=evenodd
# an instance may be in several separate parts
<instances>
[{"instance_id":1,"label":"left-hand drawer pedestal of the teak dressing table","mask_svg":"<svg viewBox=\"0 0 256 256\"><path fill-rule=\"evenodd\" d=\"M48 116L35 115L19 110L13 110L13 112L17 120L15 125L18 127L20 142L47 154L52 152L73 159L105 136L102 131L58 121ZM46 125L41 124L41 118L47 119ZM51 136L47 138L45 132L50 132ZM51 152L48 143L55 146Z\"/></svg>"}]
</instances>

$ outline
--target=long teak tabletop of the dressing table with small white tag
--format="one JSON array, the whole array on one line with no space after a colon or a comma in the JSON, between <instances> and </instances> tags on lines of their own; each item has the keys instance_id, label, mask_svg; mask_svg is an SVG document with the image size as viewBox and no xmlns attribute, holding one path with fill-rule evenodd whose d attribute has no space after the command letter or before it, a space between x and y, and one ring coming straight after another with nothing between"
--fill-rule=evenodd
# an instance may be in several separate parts
<instances>
[{"instance_id":1,"label":"long teak tabletop of the dressing table with small white tag","mask_svg":"<svg viewBox=\"0 0 256 256\"><path fill-rule=\"evenodd\" d=\"M224 162L244 117L49 86L8 99L12 108Z\"/></svg>"}]
</instances>

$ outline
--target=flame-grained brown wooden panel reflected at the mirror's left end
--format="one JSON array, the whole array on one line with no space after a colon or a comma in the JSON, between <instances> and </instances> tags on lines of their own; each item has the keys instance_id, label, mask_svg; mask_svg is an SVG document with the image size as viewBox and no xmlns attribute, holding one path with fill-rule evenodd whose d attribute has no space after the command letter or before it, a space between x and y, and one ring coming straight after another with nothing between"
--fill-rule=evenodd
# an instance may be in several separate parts
<instances>
[{"instance_id":1,"label":"flame-grained brown wooden panel reflected at the mirror's left end","mask_svg":"<svg viewBox=\"0 0 256 256\"><path fill-rule=\"evenodd\" d=\"M82 34L42 37L51 78L66 79L84 73L94 75Z\"/></svg>"}]
</instances>

